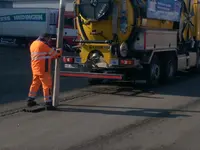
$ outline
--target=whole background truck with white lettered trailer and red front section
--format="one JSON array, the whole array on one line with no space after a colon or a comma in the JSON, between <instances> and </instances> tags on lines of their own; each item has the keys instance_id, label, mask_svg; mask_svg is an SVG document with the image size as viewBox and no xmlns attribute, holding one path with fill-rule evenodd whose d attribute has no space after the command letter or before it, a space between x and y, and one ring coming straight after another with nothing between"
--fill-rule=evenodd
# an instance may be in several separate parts
<instances>
[{"instance_id":1,"label":"whole background truck with white lettered trailer and red front section","mask_svg":"<svg viewBox=\"0 0 200 150\"><path fill-rule=\"evenodd\" d=\"M29 46L41 33L47 32L56 39L58 9L53 8L0 8L0 44ZM77 36L74 12L65 11L64 48L74 45ZM51 42L55 46L55 40Z\"/></svg>"}]
</instances>

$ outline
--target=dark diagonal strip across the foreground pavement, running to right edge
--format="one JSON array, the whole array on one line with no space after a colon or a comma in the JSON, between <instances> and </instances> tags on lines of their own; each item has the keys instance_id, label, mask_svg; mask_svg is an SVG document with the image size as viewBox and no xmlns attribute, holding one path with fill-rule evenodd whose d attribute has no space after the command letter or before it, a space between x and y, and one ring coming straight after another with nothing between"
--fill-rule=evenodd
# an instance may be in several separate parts
<instances>
[{"instance_id":1,"label":"dark diagonal strip across the foreground pavement, running to right edge","mask_svg":"<svg viewBox=\"0 0 200 150\"><path fill-rule=\"evenodd\" d=\"M179 105L178 107L174 107L172 109L163 110L163 112L157 113L153 117L143 119L142 121L140 120L140 121L134 122L133 124L129 124L129 125L123 127L123 128L119 128L119 129L116 129L114 131L111 131L110 133L108 133L106 135L101 135L101 136L98 136L94 139L84 141L83 143L76 145L76 146L72 146L72 147L70 147L66 150L93 150L94 148L96 150L100 150L101 145L108 142L112 138L116 138L116 137L119 137L121 135L124 135L124 134L128 133L130 130L134 131L134 130L137 130L139 128L143 128L145 126L149 126L151 123L163 122L166 119L168 119L168 117L172 113L174 114L178 111L184 111L187 108L197 106L199 104L200 104L200 99L195 100L195 101L191 101L191 102L184 104L184 105Z\"/></svg>"}]
</instances>

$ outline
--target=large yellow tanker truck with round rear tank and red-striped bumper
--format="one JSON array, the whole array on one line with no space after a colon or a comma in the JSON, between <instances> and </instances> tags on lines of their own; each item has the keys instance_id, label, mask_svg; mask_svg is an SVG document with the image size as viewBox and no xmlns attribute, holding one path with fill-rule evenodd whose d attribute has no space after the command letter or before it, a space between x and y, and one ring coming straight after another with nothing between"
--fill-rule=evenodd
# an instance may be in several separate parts
<instances>
[{"instance_id":1,"label":"large yellow tanker truck with round rear tank and red-striped bumper","mask_svg":"<svg viewBox=\"0 0 200 150\"><path fill-rule=\"evenodd\" d=\"M76 0L75 15L80 39L62 77L153 86L200 70L200 0Z\"/></svg>"}]
</instances>

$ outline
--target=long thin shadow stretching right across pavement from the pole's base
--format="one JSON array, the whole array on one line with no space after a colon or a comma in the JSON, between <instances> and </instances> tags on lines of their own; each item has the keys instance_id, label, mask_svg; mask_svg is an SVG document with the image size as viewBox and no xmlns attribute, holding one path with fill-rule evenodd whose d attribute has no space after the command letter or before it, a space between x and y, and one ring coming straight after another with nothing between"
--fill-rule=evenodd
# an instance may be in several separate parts
<instances>
[{"instance_id":1,"label":"long thin shadow stretching right across pavement from the pole's base","mask_svg":"<svg viewBox=\"0 0 200 150\"><path fill-rule=\"evenodd\" d=\"M79 107L79 108L77 108ZM107 109L113 110L107 110ZM106 109L106 110L105 110ZM104 115L117 115L117 116L138 116L138 117L156 117L156 118L177 118L177 117L189 117L189 115L183 114L171 114L172 110L167 109L146 109L146 108L123 108L122 107L99 107L99 106L80 106L80 105L62 105L62 108L58 108L58 111L62 112L77 112L77 113L95 113ZM130 109L130 110L128 110Z\"/></svg>"}]
</instances>

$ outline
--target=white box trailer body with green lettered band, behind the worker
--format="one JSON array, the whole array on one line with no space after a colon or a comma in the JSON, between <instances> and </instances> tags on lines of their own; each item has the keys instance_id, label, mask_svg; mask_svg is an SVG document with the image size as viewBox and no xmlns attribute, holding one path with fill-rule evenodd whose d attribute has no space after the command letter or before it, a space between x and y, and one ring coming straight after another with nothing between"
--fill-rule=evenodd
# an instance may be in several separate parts
<instances>
[{"instance_id":1,"label":"white box trailer body with green lettered band, behind the worker","mask_svg":"<svg viewBox=\"0 0 200 150\"><path fill-rule=\"evenodd\" d=\"M0 36L38 37L42 32L56 34L58 9L1 8Z\"/></svg>"}]
</instances>

